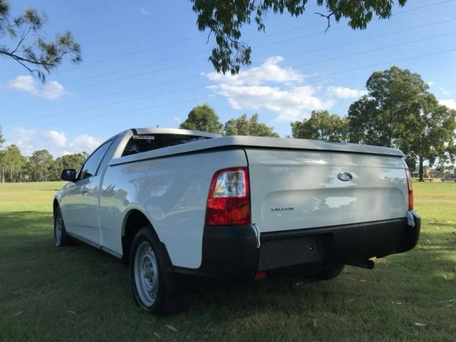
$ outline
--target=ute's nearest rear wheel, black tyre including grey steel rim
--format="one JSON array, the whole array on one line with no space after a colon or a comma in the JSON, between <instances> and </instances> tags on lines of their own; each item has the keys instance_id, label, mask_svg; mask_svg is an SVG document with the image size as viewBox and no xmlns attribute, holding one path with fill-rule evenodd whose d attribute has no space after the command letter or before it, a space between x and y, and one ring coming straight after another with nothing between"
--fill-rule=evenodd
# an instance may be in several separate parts
<instances>
[{"instance_id":1,"label":"ute's nearest rear wheel, black tyre including grey steel rim","mask_svg":"<svg viewBox=\"0 0 456 342\"><path fill-rule=\"evenodd\" d=\"M143 227L133 239L130 252L133 296L142 310L161 315L182 311L185 297L176 294L175 284L166 269L165 255L152 227Z\"/></svg>"}]
</instances>

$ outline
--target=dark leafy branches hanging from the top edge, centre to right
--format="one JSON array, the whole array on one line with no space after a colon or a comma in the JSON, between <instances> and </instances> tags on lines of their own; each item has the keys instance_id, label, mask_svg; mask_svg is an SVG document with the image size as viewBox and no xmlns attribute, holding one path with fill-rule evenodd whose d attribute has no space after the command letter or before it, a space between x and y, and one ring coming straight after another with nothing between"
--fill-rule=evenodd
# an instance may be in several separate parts
<instances>
[{"instance_id":1,"label":"dark leafy branches hanging from the top edge, centre to right","mask_svg":"<svg viewBox=\"0 0 456 342\"><path fill-rule=\"evenodd\" d=\"M209 30L214 34L217 47L212 48L209 61L217 72L239 73L241 65L248 66L252 48L241 41L241 28L250 24L252 19L258 31L265 31L264 18L269 12L291 16L301 16L306 11L308 0L191 0L192 9L197 14L199 31ZM398 0L404 6L407 0ZM326 7L326 14L317 13L327 19L327 28L331 17L336 22L348 19L348 26L353 29L364 29L374 16L388 19L392 14L392 0L351 1L351 0L317 0L318 6Z\"/></svg>"}]
</instances>

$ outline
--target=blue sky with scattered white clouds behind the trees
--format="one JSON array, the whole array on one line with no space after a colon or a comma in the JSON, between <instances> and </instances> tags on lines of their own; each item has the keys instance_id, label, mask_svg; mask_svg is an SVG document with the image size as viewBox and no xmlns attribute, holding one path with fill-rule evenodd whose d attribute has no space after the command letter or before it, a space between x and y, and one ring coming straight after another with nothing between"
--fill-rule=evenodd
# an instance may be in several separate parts
<instances>
[{"instance_id":1,"label":"blue sky with scattered white clouds behind the trees","mask_svg":"<svg viewBox=\"0 0 456 342\"><path fill-rule=\"evenodd\" d=\"M197 31L188 1L22 1L48 15L46 35L66 29L81 43L83 63L66 61L41 84L1 58L0 125L6 142L25 155L91 152L134 127L177 128L189 111L209 103L222 122L259 114L281 136L311 110L346 115L373 71L396 65L420 73L442 103L456 109L456 1L408 0L390 20L365 31L346 21L325 34L323 11L309 1L304 16L270 14L266 32L243 30L252 66L239 76L214 73L213 40Z\"/></svg>"}]
</instances>

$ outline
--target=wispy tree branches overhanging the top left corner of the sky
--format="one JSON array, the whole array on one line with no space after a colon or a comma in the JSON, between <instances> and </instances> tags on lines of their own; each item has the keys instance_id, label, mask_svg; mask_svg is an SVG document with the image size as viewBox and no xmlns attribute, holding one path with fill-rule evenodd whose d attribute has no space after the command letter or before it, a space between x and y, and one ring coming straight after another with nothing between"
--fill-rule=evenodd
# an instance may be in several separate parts
<instances>
[{"instance_id":1,"label":"wispy tree branches overhanging the top left corner of the sky","mask_svg":"<svg viewBox=\"0 0 456 342\"><path fill-rule=\"evenodd\" d=\"M81 46L74 40L71 32L57 34L53 41L44 41L43 25L46 14L38 14L36 9L26 9L24 14L12 19L8 0L0 0L0 40L9 38L11 46L0 45L0 55L13 58L33 76L46 81L63 61L70 58L73 63L81 63Z\"/></svg>"}]
</instances>

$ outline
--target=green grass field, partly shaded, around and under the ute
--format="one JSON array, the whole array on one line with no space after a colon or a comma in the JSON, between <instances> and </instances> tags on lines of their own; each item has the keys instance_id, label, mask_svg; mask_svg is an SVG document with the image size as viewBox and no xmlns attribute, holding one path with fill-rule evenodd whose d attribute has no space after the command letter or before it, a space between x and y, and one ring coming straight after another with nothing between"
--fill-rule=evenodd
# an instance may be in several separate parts
<instances>
[{"instance_id":1,"label":"green grass field, partly shaded, around and under the ute","mask_svg":"<svg viewBox=\"0 0 456 342\"><path fill-rule=\"evenodd\" d=\"M372 271L202 290L172 317L135 306L120 261L53 247L61 184L0 184L0 341L456 341L456 183L414 184L418 247Z\"/></svg>"}]
</instances>

